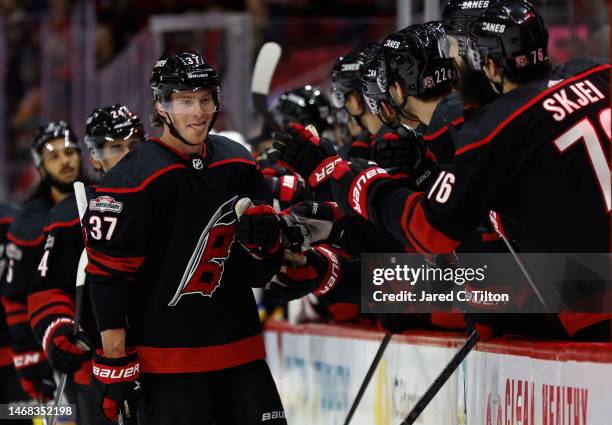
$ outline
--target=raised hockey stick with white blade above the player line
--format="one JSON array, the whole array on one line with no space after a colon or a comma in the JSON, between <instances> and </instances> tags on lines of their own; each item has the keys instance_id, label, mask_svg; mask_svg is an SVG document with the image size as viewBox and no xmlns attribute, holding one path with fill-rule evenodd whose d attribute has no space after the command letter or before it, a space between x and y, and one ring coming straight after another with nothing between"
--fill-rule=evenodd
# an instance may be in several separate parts
<instances>
[{"instance_id":1,"label":"raised hockey stick with white blade above the player line","mask_svg":"<svg viewBox=\"0 0 612 425\"><path fill-rule=\"evenodd\" d=\"M255 66L253 67L253 77L251 79L251 94L253 96L253 106L255 111L264 117L266 123L277 129L276 122L268 112L268 95L274 71L280 60L282 49L278 43L267 42L259 50Z\"/></svg>"}]
</instances>

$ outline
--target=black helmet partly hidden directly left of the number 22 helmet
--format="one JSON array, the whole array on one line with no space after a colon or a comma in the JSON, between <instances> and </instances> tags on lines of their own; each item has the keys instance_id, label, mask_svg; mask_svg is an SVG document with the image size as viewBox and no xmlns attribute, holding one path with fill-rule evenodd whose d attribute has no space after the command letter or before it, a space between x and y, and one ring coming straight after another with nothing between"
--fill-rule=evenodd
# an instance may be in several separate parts
<instances>
[{"instance_id":1,"label":"black helmet partly hidden directly left of the number 22 helmet","mask_svg":"<svg viewBox=\"0 0 612 425\"><path fill-rule=\"evenodd\" d=\"M384 58L376 55L361 68L359 80L363 100L370 111L387 126L399 125L399 113L389 96L387 85L387 68Z\"/></svg>"}]
</instances>

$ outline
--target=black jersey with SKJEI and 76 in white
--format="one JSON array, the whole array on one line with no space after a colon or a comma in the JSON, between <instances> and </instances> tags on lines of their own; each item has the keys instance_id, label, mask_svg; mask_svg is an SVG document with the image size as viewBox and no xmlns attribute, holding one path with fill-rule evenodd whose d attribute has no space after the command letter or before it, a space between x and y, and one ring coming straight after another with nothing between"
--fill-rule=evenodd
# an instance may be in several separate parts
<instances>
[{"instance_id":1,"label":"black jersey with SKJEI and 76 in white","mask_svg":"<svg viewBox=\"0 0 612 425\"><path fill-rule=\"evenodd\" d=\"M382 200L385 228L449 252L494 210L522 252L609 252L609 93L609 64L573 61L501 96L466 121L428 193Z\"/></svg>"}]
</instances>

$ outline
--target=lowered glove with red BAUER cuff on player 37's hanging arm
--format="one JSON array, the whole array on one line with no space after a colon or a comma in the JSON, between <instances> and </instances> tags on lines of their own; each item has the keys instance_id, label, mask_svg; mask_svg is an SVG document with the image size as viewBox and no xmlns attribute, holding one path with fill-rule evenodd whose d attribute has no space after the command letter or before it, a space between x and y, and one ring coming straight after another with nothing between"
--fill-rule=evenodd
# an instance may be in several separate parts
<instances>
[{"instance_id":1,"label":"lowered glove with red BAUER cuff on player 37's hanging arm","mask_svg":"<svg viewBox=\"0 0 612 425\"><path fill-rule=\"evenodd\" d=\"M140 397L140 364L136 352L124 357L104 357L97 350L93 357L92 387L108 420L117 422L119 406L124 402L135 404Z\"/></svg>"}]
</instances>

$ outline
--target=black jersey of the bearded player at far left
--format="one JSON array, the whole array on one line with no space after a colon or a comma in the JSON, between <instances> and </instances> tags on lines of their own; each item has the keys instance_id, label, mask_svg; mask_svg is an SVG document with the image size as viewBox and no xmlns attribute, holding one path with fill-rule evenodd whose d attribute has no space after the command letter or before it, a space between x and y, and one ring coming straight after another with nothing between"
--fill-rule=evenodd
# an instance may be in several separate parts
<instances>
[{"instance_id":1,"label":"black jersey of the bearded player at far left","mask_svg":"<svg viewBox=\"0 0 612 425\"><path fill-rule=\"evenodd\" d=\"M2 304L15 351L38 347L28 319L27 297L40 264L43 227L53 204L48 193L26 201L6 235L8 264L2 281Z\"/></svg>"}]
</instances>

